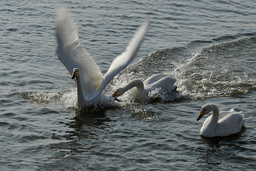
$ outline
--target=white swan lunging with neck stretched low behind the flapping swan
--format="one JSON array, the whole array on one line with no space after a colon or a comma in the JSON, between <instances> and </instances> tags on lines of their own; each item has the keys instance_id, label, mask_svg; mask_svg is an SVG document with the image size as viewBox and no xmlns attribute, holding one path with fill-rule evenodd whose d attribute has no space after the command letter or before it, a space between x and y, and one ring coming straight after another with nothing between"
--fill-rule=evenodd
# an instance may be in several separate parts
<instances>
[{"instance_id":1,"label":"white swan lunging with neck stretched low behind the flapping swan","mask_svg":"<svg viewBox=\"0 0 256 171\"><path fill-rule=\"evenodd\" d=\"M127 83L124 87L117 88L112 96L118 97L123 95L129 89L132 89L134 93L141 96L147 96L148 93L156 88L176 90L177 87L173 84L176 79L167 74L155 74L147 78L144 82L140 79L134 79Z\"/></svg>"}]
</instances>

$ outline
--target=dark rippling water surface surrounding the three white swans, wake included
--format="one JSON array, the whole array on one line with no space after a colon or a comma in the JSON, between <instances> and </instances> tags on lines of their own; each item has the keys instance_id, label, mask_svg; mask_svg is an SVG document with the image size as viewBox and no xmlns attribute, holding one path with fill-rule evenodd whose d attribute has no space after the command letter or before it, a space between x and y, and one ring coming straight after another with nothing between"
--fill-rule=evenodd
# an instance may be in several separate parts
<instances>
[{"instance_id":1,"label":"dark rippling water surface surrounding the three white swans, wake included","mask_svg":"<svg viewBox=\"0 0 256 171\"><path fill-rule=\"evenodd\" d=\"M103 74L151 20L104 93L157 73L174 75L178 89L79 109L55 52L63 5ZM253 1L1 1L0 170L255 170L255 11ZM201 136L205 103L243 111L241 132Z\"/></svg>"}]
</instances>

